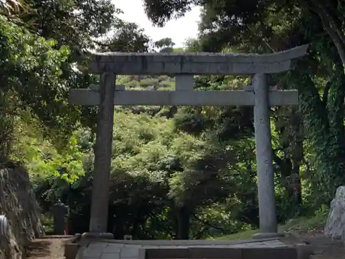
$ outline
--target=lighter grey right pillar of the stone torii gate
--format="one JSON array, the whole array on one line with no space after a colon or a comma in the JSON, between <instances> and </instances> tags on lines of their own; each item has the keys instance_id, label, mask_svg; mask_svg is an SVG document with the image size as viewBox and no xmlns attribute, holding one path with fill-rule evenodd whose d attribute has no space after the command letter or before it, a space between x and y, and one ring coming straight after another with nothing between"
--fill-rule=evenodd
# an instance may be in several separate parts
<instances>
[{"instance_id":1,"label":"lighter grey right pillar of the stone torii gate","mask_svg":"<svg viewBox=\"0 0 345 259\"><path fill-rule=\"evenodd\" d=\"M273 153L270 133L270 106L268 86L265 74L255 74L254 90L254 126L257 159L257 189L259 196L260 233L254 238L279 236L275 212L275 183L273 171Z\"/></svg>"}]
</instances>

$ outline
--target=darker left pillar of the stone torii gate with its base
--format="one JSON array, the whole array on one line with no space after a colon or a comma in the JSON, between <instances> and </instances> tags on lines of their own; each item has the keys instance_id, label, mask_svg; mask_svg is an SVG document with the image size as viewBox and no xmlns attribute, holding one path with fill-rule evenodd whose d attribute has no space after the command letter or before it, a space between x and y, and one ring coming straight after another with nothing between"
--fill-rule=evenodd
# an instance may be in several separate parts
<instances>
[{"instance_id":1,"label":"darker left pillar of the stone torii gate with its base","mask_svg":"<svg viewBox=\"0 0 345 259\"><path fill-rule=\"evenodd\" d=\"M83 233L83 238L114 239L114 235L107 231L115 83L116 75L114 73L101 74L90 227L89 232Z\"/></svg>"}]
</instances>

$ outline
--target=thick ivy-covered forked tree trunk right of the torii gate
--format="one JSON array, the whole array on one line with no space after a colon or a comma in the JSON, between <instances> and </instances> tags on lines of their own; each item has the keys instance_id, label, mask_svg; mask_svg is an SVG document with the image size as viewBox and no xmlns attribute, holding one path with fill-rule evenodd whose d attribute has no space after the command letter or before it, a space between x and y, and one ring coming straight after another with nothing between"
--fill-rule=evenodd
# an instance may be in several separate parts
<instances>
[{"instance_id":1,"label":"thick ivy-covered forked tree trunk right of the torii gate","mask_svg":"<svg viewBox=\"0 0 345 259\"><path fill-rule=\"evenodd\" d=\"M299 68L299 70L301 70ZM333 199L338 186L345 184L344 162L344 72L335 71L327 100L320 99L315 83L309 75L294 71L293 85L299 90L300 109L304 115L304 125L315 152L317 166L318 204L328 204ZM337 73L341 73L337 75ZM325 102L326 101L326 102ZM327 105L326 105L327 104ZM315 190L316 191L316 190Z\"/></svg>"}]
</instances>

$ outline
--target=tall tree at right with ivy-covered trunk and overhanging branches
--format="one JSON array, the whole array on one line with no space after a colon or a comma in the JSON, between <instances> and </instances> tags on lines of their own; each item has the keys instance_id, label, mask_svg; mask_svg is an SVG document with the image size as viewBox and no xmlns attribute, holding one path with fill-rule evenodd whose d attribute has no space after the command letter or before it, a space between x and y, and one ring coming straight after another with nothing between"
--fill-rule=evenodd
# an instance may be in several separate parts
<instances>
[{"instance_id":1,"label":"tall tree at right with ivy-covered trunk and overhanging branches","mask_svg":"<svg viewBox=\"0 0 345 259\"><path fill-rule=\"evenodd\" d=\"M163 25L184 15L191 4L202 7L202 50L276 52L310 43L308 56L287 76L270 84L297 88L308 141L317 156L318 202L328 203L344 178L344 17L342 1L144 1L146 13ZM241 22L239 22L241 21ZM327 84L326 84L327 83ZM331 97L330 97L331 96ZM299 159L300 160L300 159ZM296 161L298 162L298 161ZM320 191L322 190L322 191Z\"/></svg>"}]
</instances>

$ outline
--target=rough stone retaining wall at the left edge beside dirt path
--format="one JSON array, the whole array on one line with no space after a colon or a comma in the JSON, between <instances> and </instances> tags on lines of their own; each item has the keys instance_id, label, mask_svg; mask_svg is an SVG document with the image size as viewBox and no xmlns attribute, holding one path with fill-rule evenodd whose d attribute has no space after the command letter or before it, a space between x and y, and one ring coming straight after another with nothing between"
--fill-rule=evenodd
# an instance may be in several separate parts
<instances>
[{"instance_id":1,"label":"rough stone retaining wall at the left edge beside dirt path","mask_svg":"<svg viewBox=\"0 0 345 259\"><path fill-rule=\"evenodd\" d=\"M0 215L8 233L0 236L0 259L21 259L28 242L43 234L40 212L25 169L0 169Z\"/></svg>"}]
</instances>

